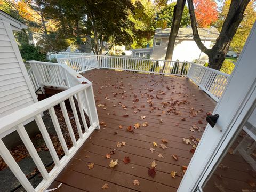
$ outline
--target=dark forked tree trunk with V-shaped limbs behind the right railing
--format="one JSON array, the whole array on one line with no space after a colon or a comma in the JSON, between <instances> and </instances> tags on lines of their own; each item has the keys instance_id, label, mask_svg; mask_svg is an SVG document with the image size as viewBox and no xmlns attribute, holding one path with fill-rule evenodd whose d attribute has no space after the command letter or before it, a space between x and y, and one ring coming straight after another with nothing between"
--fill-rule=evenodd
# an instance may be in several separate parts
<instances>
[{"instance_id":1,"label":"dark forked tree trunk with V-shaped limbs behind the right railing","mask_svg":"<svg viewBox=\"0 0 256 192\"><path fill-rule=\"evenodd\" d=\"M209 57L209 67L220 70L226 54L229 49L229 45L244 17L244 11L250 0L232 0L230 3L227 17L223 23L219 37L216 39L215 44L211 49L208 49L201 42L201 39L197 30L197 22L195 17L195 10L192 0L188 0L188 9L191 19L191 27L193 30L194 40L205 54Z\"/></svg>"}]
</instances>

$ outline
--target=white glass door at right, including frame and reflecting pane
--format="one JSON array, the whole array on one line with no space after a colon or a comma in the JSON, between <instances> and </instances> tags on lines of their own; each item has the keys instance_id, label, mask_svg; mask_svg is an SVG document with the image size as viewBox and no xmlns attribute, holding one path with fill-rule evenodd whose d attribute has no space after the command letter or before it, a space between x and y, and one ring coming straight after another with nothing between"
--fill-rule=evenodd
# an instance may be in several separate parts
<instances>
[{"instance_id":1,"label":"white glass door at right, including frame and reflecting pane","mask_svg":"<svg viewBox=\"0 0 256 192\"><path fill-rule=\"evenodd\" d=\"M256 121L254 106L256 100L255 26L254 23L233 74L229 78L227 87L213 111L213 114L219 114L217 123L213 128L210 125L206 126L201 141L181 181L179 192L224 192L234 190L247 190L249 192L251 185L253 186L251 179L254 177L247 177L242 173L249 172L249 170L253 171L255 168L254 160L256 159L254 156L255 143L253 142L256 135L254 126ZM241 135L243 135L242 138ZM239 143L237 144L237 142ZM227 153L233 156L230 157ZM227 158L231 162L227 161ZM239 162L240 164L233 162ZM231 169L233 168L231 164L236 165L234 169ZM246 167L246 171L240 169L241 173L237 172L238 167L241 168L242 166ZM223 170L220 170L221 168ZM224 172L227 169L236 172ZM250 171L250 173L254 172ZM239 177L234 176L236 174L241 175L240 180ZM242 177L244 177L243 180L241 180ZM225 180L226 178L228 180ZM219 179L218 182L216 179ZM230 179L236 179L236 185ZM254 182L256 183L256 178L254 178ZM239 183L243 183L243 185L239 186ZM233 189L229 186L236 187ZM241 190L239 187L241 187ZM256 187L253 190L256 191Z\"/></svg>"}]
</instances>

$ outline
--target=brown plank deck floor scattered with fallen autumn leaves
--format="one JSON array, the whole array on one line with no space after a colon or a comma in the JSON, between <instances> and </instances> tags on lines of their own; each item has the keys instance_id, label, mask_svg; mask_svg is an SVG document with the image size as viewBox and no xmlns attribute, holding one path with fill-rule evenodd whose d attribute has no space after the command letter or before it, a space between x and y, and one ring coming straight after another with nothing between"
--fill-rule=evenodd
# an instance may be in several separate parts
<instances>
[{"instance_id":1,"label":"brown plank deck floor scattered with fallen autumn leaves","mask_svg":"<svg viewBox=\"0 0 256 192\"><path fill-rule=\"evenodd\" d=\"M105 69L94 69L84 76L93 82L99 121L105 124L92 133L49 189L62 183L57 191L102 191L101 187L107 183L107 191L176 191L182 179L182 165L188 165L193 156L190 152L193 146L186 145L182 138L192 135L201 138L206 113L214 109L215 102L185 77ZM162 107L163 102L166 107ZM155 109L150 112L152 107ZM171 113L167 113L169 108ZM148 126L134 129L134 133L126 130L129 125L144 122ZM189 130L195 123L201 132ZM166 149L159 147L163 138L168 140ZM116 147L122 141L126 146ZM153 142L158 146L154 147ZM151 147L155 149L153 153ZM106 159L112 149L115 154ZM178 156L178 161L172 154ZM125 156L130 157L130 163L123 162ZM113 169L109 167L111 159L118 159L119 165ZM156 175L151 178L148 169L153 160L157 166ZM90 163L94 163L93 169L88 169ZM171 171L177 172L175 178L171 177ZM135 179L139 180L139 186L133 185Z\"/></svg>"}]
</instances>

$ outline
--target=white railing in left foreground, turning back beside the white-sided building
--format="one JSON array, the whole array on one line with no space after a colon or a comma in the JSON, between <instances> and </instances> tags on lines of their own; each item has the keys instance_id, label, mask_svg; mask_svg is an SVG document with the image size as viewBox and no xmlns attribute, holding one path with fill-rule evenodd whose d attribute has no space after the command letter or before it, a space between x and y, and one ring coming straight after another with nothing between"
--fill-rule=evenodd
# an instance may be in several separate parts
<instances>
[{"instance_id":1,"label":"white railing in left foreground, turning back beside the white-sided building","mask_svg":"<svg viewBox=\"0 0 256 192\"><path fill-rule=\"evenodd\" d=\"M44 191L62 171L69 160L74 156L76 151L90 136L93 130L99 129L99 120L94 101L92 83L90 81L65 65L59 65L55 63L46 64L44 62L37 61L29 61L29 63L31 64L35 75L33 78L38 77L37 82L39 86L44 84L52 86L60 85L68 87L69 89L0 118L0 156L4 159L4 162L9 166L15 177L17 177L26 191ZM59 73L64 73L65 75L61 75ZM60 75L60 77L58 75ZM70 103L76 126L72 126L70 123L65 101ZM75 105L75 103L77 103L77 105ZM62 133L57 115L55 114L54 106L56 105L60 105L63 118L67 125L69 136L73 143L73 146L70 149L68 149L67 143L63 136L67 133ZM57 151L54 148L53 142L51 141L50 135L47 132L41 117L41 114L45 111L48 111L50 114L51 121L65 154L63 157L58 157ZM88 115L89 122L88 120L86 122L86 115L84 112ZM55 164L50 172L47 172L41 157L39 157L23 125L23 122L26 122L27 119L30 118L35 119L39 131L43 136L45 144ZM20 166L17 164L12 154L9 152L4 142L2 141L3 135L6 135L5 133L10 133L11 131L15 130L18 132L21 140L23 141L23 144L25 145L38 171L43 177L42 182L39 183L36 188L31 185L26 175L22 172ZM75 137L74 131L78 132L77 139Z\"/></svg>"}]
</instances>

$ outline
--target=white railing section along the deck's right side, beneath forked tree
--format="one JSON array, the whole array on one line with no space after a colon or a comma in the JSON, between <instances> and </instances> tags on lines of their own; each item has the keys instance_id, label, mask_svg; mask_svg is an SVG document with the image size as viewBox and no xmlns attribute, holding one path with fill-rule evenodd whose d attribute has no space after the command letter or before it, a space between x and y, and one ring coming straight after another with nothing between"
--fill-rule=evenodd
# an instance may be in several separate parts
<instances>
[{"instance_id":1,"label":"white railing section along the deck's right side, beneath forked tree","mask_svg":"<svg viewBox=\"0 0 256 192\"><path fill-rule=\"evenodd\" d=\"M218 70L192 63L187 77L195 82L200 89L218 101L224 91L230 75Z\"/></svg>"}]
</instances>

